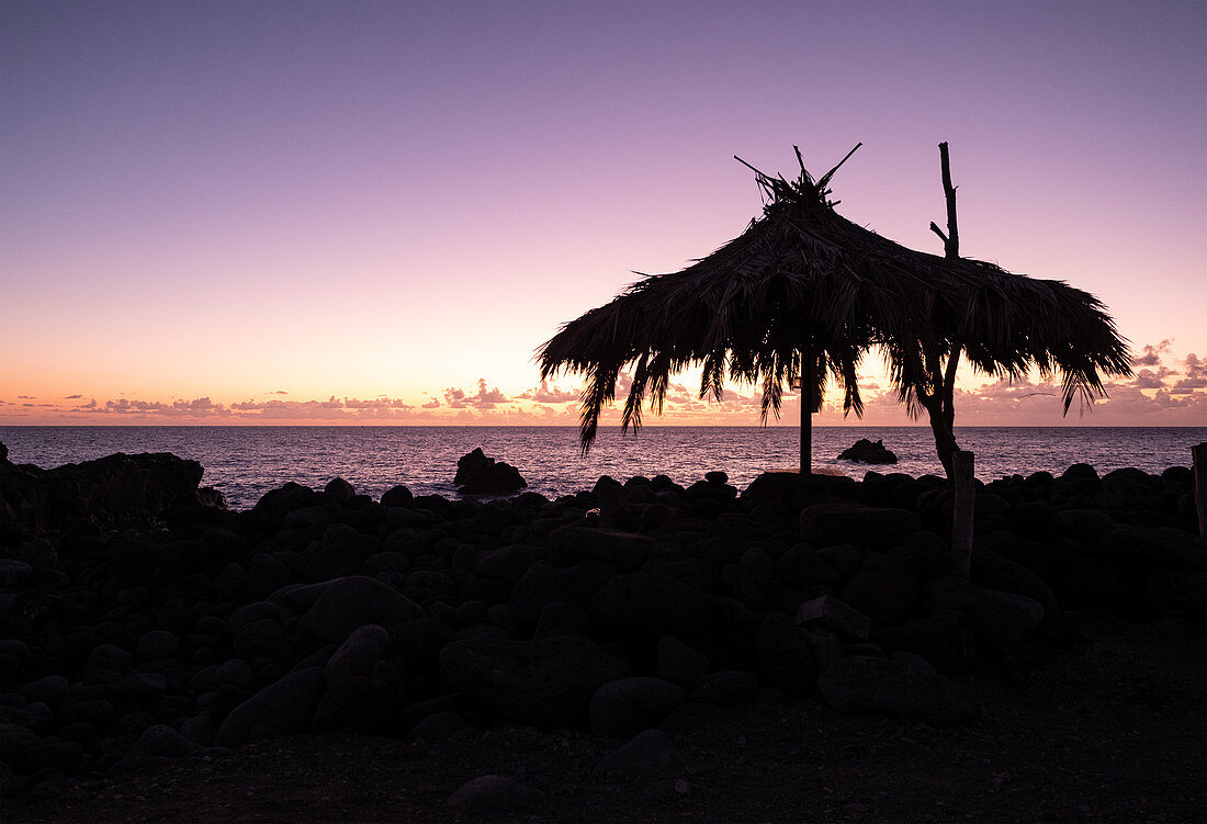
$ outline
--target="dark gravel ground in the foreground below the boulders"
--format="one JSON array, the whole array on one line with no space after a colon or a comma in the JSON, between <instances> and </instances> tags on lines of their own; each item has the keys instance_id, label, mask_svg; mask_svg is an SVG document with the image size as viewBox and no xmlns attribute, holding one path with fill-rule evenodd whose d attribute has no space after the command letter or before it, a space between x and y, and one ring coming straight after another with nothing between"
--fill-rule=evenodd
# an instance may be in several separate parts
<instances>
[{"instance_id":1,"label":"dark gravel ground in the foreground below the boulders","mask_svg":"<svg viewBox=\"0 0 1207 824\"><path fill-rule=\"evenodd\" d=\"M671 738L682 767L608 776L618 742L529 727L430 746L333 735L193 756L6 800L0 819L97 822L1170 822L1207 820L1201 638L1088 623L1094 641L964 686L967 727L844 717L820 699L729 711ZM523 810L448 805L509 777Z\"/></svg>"}]
</instances>

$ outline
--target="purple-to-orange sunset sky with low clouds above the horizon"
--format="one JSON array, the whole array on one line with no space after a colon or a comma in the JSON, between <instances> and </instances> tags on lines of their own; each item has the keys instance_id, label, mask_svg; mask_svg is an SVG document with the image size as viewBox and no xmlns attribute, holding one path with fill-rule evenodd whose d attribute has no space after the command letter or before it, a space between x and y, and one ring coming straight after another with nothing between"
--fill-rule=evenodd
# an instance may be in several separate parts
<instances>
[{"instance_id":1,"label":"purple-to-orange sunset sky with low clouds above the horizon","mask_svg":"<svg viewBox=\"0 0 1207 824\"><path fill-rule=\"evenodd\" d=\"M1205 36L1202 2L4 0L0 425L572 425L561 323L740 234L735 154L861 141L840 214L941 253L947 141L962 255L1132 344L1092 413L967 373L957 423L1205 425ZM757 395L688 374L646 422Z\"/></svg>"}]
</instances>

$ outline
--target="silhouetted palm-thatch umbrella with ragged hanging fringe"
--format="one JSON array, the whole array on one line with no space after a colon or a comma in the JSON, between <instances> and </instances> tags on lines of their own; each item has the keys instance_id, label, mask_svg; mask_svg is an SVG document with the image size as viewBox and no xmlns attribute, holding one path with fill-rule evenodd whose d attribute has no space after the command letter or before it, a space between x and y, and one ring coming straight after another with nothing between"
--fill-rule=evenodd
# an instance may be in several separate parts
<instances>
[{"instance_id":1,"label":"silhouetted palm-thatch umbrella with ragged hanging fringe","mask_svg":"<svg viewBox=\"0 0 1207 824\"><path fill-rule=\"evenodd\" d=\"M740 236L681 271L646 276L541 346L542 378L565 369L587 379L584 451L624 369L624 429L641 425L647 397L660 413L671 376L689 367L702 367L701 398L721 401L727 379L760 385L764 422L800 381L801 473L811 471L811 413L832 378L845 390L844 413L862 413L856 372L871 347L885 352L910 411L932 411L949 472L952 416L940 401L961 352L991 375L1060 373L1066 413L1074 397L1104 393L1100 369L1130 373L1126 341L1094 296L905 249L841 217L828 185L857 148L816 181L799 150L795 180L751 166L764 209Z\"/></svg>"}]
</instances>

